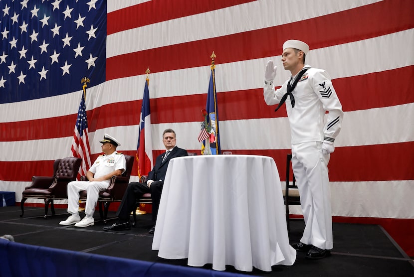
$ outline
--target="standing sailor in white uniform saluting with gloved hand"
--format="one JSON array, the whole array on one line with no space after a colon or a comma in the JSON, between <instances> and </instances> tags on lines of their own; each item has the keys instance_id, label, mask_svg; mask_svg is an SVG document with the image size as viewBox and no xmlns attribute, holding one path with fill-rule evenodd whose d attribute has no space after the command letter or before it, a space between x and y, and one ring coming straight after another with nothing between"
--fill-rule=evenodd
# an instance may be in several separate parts
<instances>
[{"instance_id":1,"label":"standing sailor in white uniform saluting with gloved hand","mask_svg":"<svg viewBox=\"0 0 414 277\"><path fill-rule=\"evenodd\" d=\"M277 67L269 60L263 96L267 105L279 104L275 111L286 101L292 167L306 224L300 242L292 246L307 251L307 258L321 259L329 256L333 248L328 162L341 130L343 111L328 73L305 65L308 51L306 43L287 40L283 44L282 63L292 76L275 90Z\"/></svg>"}]
</instances>

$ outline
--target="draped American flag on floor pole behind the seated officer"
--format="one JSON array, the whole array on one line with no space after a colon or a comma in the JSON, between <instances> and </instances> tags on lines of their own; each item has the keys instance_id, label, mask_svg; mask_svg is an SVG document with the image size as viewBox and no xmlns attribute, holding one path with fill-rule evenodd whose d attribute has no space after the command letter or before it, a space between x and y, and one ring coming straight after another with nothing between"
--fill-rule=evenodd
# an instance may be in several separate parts
<instances>
[{"instance_id":1,"label":"draped American flag on floor pole behind the seated officer","mask_svg":"<svg viewBox=\"0 0 414 277\"><path fill-rule=\"evenodd\" d=\"M86 116L85 94L82 93L82 98L79 104L78 117L76 118L75 131L72 141L72 154L74 157L82 159L79 167L78 180L80 176L85 176L86 172L91 167L90 147L88 138L88 119Z\"/></svg>"}]
</instances>

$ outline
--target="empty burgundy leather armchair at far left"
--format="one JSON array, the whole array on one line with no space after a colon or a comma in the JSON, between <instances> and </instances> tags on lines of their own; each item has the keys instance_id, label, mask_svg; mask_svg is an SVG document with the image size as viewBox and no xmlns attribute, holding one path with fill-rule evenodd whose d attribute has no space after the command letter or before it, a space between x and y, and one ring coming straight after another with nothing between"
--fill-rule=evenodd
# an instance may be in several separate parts
<instances>
[{"instance_id":1,"label":"empty burgundy leather armchair at far left","mask_svg":"<svg viewBox=\"0 0 414 277\"><path fill-rule=\"evenodd\" d=\"M53 163L53 176L33 176L31 185L22 192L20 217L23 217L24 202L28 198L44 200L44 218L47 218L49 204L54 215L53 200L67 199L67 184L76 180L81 161L77 157L56 159Z\"/></svg>"}]
</instances>

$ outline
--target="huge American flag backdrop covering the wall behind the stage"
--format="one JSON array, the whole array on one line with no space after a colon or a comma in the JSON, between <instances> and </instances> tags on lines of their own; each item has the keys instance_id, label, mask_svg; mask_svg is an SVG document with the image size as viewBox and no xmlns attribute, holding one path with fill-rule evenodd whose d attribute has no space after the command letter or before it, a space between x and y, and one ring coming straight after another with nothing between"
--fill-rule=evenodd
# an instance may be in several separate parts
<instances>
[{"instance_id":1,"label":"huge American flag backdrop covering the wall behind the stage","mask_svg":"<svg viewBox=\"0 0 414 277\"><path fill-rule=\"evenodd\" d=\"M166 128L199 152L212 51L222 150L271 156L283 179L289 124L264 103L264 68L276 62L281 86L282 43L300 39L345 112L334 221L382 224L414 256L413 27L412 0L1 0L0 190L20 201L32 175L71 155L82 77L91 160L105 133L135 155L147 67L153 156Z\"/></svg>"}]
</instances>

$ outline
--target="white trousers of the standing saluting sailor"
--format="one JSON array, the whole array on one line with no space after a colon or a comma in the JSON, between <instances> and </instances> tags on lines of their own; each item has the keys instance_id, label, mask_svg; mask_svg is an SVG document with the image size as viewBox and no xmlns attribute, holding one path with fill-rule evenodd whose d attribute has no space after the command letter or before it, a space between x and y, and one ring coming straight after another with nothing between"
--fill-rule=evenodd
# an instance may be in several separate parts
<instances>
[{"instance_id":1,"label":"white trousers of the standing saluting sailor","mask_svg":"<svg viewBox=\"0 0 414 277\"><path fill-rule=\"evenodd\" d=\"M300 241L321 249L333 248L329 158L322 153L322 142L292 144L293 173L306 224Z\"/></svg>"}]
</instances>

